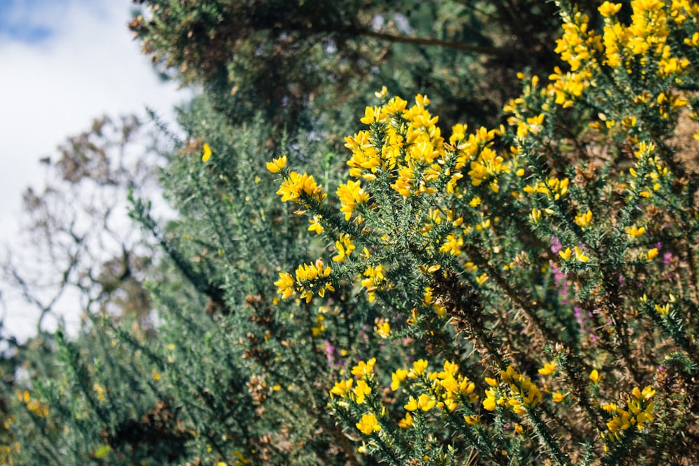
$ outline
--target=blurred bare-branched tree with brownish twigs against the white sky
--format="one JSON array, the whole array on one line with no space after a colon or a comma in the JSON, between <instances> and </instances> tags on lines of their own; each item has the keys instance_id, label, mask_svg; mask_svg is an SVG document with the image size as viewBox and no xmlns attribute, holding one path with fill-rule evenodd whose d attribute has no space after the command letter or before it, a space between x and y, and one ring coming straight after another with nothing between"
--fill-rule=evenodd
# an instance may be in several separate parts
<instances>
[{"instance_id":1,"label":"blurred bare-branched tree with brownish twigs against the white sky","mask_svg":"<svg viewBox=\"0 0 699 466\"><path fill-rule=\"evenodd\" d=\"M164 141L136 117L96 119L89 131L43 159L45 187L24 193L25 235L3 257L3 279L39 313L59 319L83 312L133 314L146 319L143 289L154 251L127 216L127 195L158 190ZM6 298L10 298L8 295Z\"/></svg>"}]
</instances>

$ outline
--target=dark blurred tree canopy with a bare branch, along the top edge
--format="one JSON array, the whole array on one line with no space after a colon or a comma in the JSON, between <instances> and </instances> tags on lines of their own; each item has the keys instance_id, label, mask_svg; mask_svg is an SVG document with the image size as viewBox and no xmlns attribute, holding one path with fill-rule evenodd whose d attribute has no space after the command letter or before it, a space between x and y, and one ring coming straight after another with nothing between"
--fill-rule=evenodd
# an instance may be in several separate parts
<instances>
[{"instance_id":1,"label":"dark blurred tree canopy with a bare branch, along the top edge","mask_svg":"<svg viewBox=\"0 0 699 466\"><path fill-rule=\"evenodd\" d=\"M317 129L382 85L434 97L447 125L494 124L516 73L548 73L556 6L500 1L137 1L131 22L154 64L217 95L231 122L262 112ZM339 116L339 118L338 118Z\"/></svg>"}]
</instances>

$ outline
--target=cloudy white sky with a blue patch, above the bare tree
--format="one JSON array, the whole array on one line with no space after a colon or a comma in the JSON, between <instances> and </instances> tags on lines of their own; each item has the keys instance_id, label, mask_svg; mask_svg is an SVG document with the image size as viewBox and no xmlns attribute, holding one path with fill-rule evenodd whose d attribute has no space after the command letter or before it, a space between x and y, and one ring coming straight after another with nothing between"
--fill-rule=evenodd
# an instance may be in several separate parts
<instances>
[{"instance_id":1,"label":"cloudy white sky with a blue patch, above the bare tree","mask_svg":"<svg viewBox=\"0 0 699 466\"><path fill-rule=\"evenodd\" d=\"M172 119L189 98L140 54L127 28L133 8L131 0L0 0L0 244L22 237L22 192L43 187L39 160L55 159L67 136L101 115L145 115L146 106ZM8 326L33 331L31 316L15 317Z\"/></svg>"}]
</instances>

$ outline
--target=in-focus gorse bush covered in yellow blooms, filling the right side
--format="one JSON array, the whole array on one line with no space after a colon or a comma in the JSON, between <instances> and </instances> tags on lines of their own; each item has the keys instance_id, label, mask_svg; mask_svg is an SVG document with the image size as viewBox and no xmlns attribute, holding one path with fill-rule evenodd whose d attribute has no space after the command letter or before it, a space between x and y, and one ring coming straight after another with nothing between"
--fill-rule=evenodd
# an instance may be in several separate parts
<instances>
[{"instance_id":1,"label":"in-focus gorse bush covered in yellow blooms, filling the right side","mask_svg":"<svg viewBox=\"0 0 699 466\"><path fill-rule=\"evenodd\" d=\"M332 305L354 287L379 309L384 348L348 361L331 389L362 453L699 459L697 179L678 156L696 153L683 136L699 138L699 9L632 1L627 21L621 8L600 6L598 33L561 5L570 69L547 84L523 75L507 126L446 138L426 96L409 105L383 89L345 138L336 201L286 157L268 163L282 201L334 243L280 272L278 293Z\"/></svg>"}]
</instances>

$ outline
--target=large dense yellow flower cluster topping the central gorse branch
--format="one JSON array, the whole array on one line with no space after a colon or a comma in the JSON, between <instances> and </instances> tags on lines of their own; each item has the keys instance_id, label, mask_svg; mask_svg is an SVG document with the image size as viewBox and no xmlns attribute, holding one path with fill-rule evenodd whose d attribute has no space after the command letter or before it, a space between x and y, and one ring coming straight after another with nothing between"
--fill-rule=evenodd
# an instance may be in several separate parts
<instances>
[{"instance_id":1,"label":"large dense yellow flower cluster topping the central gorse branch","mask_svg":"<svg viewBox=\"0 0 699 466\"><path fill-rule=\"evenodd\" d=\"M415 105L394 97L382 107L367 107L363 124L369 130L359 131L345 138L345 147L352 150L347 161L349 175L369 182L382 180L403 198L435 194L446 182L447 192L452 193L456 183L468 175L473 186L488 181L493 191L498 191L496 175L508 171L502 155L491 149L493 139L502 129L480 129L466 137L466 126L452 128L448 143L436 126L426 107L430 101L418 94ZM347 182L338 189L345 219L349 220L356 205L366 203L368 194L359 182ZM361 219L358 219L361 221Z\"/></svg>"}]
</instances>

